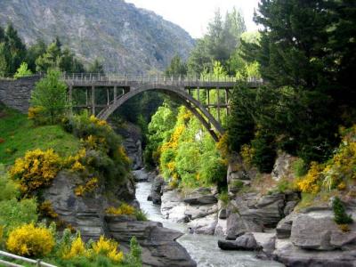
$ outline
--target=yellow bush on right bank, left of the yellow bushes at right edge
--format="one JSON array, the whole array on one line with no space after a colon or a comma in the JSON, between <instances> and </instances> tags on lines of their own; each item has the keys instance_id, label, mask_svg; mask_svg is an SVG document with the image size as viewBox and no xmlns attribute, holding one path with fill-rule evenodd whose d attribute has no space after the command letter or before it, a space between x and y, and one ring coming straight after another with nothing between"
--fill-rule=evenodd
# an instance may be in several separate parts
<instances>
[{"instance_id":1,"label":"yellow bush on right bank, left of the yellow bushes at right edge","mask_svg":"<svg viewBox=\"0 0 356 267\"><path fill-rule=\"evenodd\" d=\"M320 191L320 179L322 178L323 166L320 166L317 162L312 162L311 168L308 174L303 176L296 186L304 193L317 193Z\"/></svg>"}]
</instances>

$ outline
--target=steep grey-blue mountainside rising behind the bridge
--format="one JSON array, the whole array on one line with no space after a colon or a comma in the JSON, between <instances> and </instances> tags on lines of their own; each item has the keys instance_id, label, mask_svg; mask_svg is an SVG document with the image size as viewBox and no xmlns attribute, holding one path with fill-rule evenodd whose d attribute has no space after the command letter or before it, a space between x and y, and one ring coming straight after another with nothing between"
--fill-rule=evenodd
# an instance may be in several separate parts
<instances>
[{"instance_id":1,"label":"steep grey-blue mountainside rising behind the bridge","mask_svg":"<svg viewBox=\"0 0 356 267\"><path fill-rule=\"evenodd\" d=\"M194 45L182 28L124 0L2 0L0 25L9 21L27 44L60 36L83 61L98 57L107 70L128 73L165 69Z\"/></svg>"}]
</instances>

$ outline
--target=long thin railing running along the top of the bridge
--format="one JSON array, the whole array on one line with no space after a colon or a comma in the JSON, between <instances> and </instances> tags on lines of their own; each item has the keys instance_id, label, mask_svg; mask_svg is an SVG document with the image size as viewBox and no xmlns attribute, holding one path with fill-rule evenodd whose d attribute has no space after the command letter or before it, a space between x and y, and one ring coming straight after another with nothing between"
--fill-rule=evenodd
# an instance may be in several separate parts
<instances>
[{"instance_id":1,"label":"long thin railing running along the top of the bridge","mask_svg":"<svg viewBox=\"0 0 356 267\"><path fill-rule=\"evenodd\" d=\"M196 84L196 83L231 83L238 81L236 77L219 76L165 76L165 75L125 75L117 73L64 73L63 80L73 83L141 83L141 84ZM248 83L263 84L260 78L249 77Z\"/></svg>"}]
</instances>

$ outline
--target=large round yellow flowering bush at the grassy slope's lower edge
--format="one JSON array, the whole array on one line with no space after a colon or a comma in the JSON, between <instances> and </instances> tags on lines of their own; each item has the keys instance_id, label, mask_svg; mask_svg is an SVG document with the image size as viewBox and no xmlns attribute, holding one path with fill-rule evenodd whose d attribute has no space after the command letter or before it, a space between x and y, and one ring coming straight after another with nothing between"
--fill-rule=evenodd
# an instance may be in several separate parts
<instances>
[{"instance_id":1,"label":"large round yellow flowering bush at the grassy slope's lower edge","mask_svg":"<svg viewBox=\"0 0 356 267\"><path fill-rule=\"evenodd\" d=\"M53 150L32 150L24 158L16 159L10 175L20 182L22 193L30 193L50 185L60 170L61 158Z\"/></svg>"}]
</instances>

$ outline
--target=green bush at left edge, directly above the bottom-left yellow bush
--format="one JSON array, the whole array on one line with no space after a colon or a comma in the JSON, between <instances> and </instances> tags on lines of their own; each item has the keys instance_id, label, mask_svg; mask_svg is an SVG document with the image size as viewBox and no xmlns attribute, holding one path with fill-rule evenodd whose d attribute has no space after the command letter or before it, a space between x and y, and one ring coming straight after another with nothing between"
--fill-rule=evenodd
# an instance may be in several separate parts
<instances>
[{"instance_id":1,"label":"green bush at left edge, directly above the bottom-left yellow bush","mask_svg":"<svg viewBox=\"0 0 356 267\"><path fill-rule=\"evenodd\" d=\"M0 201L0 225L4 226L5 235L24 223L36 223L37 217L37 204L33 198Z\"/></svg>"}]
</instances>

